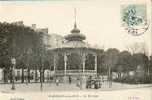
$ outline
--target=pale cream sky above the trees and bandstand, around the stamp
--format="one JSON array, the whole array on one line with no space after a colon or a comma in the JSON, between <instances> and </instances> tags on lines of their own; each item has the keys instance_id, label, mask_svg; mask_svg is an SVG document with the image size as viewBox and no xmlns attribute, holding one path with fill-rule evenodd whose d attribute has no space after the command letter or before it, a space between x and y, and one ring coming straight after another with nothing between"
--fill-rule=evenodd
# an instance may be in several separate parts
<instances>
[{"instance_id":1,"label":"pale cream sky above the trees and bandstand, around the stamp","mask_svg":"<svg viewBox=\"0 0 152 100\"><path fill-rule=\"evenodd\" d=\"M149 0L133 0L133 3L147 3ZM137 2L138 1L138 2ZM134 43L145 43L149 52L152 51L151 27L143 35L133 36L124 31L121 26L121 5L129 4L128 0L50 0L0 2L0 21L24 21L38 28L49 28L49 34L62 36L70 34L77 10L77 26L86 35L86 41L91 45L99 45L104 49L118 48L126 50ZM132 3L132 2L131 2ZM147 7L150 3L147 3ZM151 21L151 11L147 10Z\"/></svg>"}]
</instances>

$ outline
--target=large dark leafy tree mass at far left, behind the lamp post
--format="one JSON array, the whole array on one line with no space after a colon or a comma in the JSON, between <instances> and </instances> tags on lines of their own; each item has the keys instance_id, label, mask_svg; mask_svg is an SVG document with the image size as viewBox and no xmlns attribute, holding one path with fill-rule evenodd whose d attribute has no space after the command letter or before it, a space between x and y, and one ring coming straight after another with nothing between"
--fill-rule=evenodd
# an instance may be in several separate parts
<instances>
[{"instance_id":1,"label":"large dark leafy tree mass at far left, behind the lamp post","mask_svg":"<svg viewBox=\"0 0 152 100\"><path fill-rule=\"evenodd\" d=\"M15 57L17 60L17 68L22 68L22 73L24 68L33 65L34 55L37 55L37 49L43 45L41 44L42 38L40 33L24 25L19 26L16 24L0 23L0 37L3 40L0 44L1 67L9 69L11 65L10 58ZM30 54L28 53L29 50L31 51ZM22 77L22 82L24 82L23 78L24 77Z\"/></svg>"}]
</instances>

